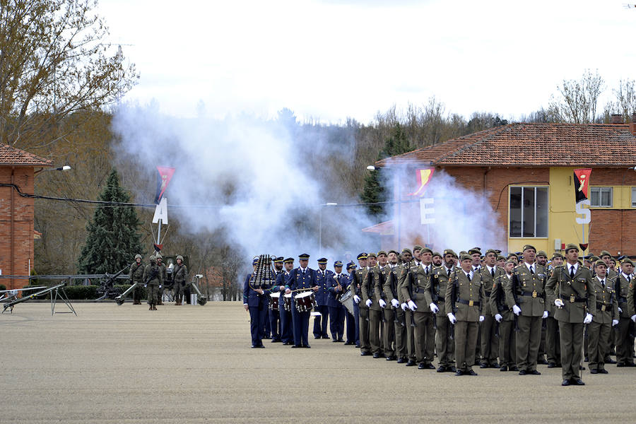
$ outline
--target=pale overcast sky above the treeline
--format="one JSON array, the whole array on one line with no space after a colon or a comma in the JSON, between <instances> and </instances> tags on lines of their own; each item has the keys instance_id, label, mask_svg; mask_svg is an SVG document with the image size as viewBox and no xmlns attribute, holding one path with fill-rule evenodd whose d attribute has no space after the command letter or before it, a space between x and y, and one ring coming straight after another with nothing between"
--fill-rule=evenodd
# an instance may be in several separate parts
<instances>
[{"instance_id":1,"label":"pale overcast sky above the treeline","mask_svg":"<svg viewBox=\"0 0 636 424\"><path fill-rule=\"evenodd\" d=\"M100 0L141 74L124 100L192 117L247 112L369 122L430 96L518 117L564 78L636 79L631 0Z\"/></svg>"}]
</instances>

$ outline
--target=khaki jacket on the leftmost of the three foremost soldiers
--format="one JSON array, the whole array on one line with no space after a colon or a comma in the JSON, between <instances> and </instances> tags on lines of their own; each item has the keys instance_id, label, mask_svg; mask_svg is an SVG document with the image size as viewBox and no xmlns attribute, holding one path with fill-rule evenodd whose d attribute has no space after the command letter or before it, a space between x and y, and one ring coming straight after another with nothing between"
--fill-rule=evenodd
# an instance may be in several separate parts
<instances>
[{"instance_id":1,"label":"khaki jacket on the leftmost of the three foremost soldiers","mask_svg":"<svg viewBox=\"0 0 636 424\"><path fill-rule=\"evenodd\" d=\"M453 299L453 285L457 296L455 299ZM487 301L480 272L473 272L473 278L470 281L463 269L456 269L452 273L446 286L446 307L448 312L451 312L454 302L457 308L454 314L457 321L479 322L483 302ZM469 305L465 305L464 302L468 302Z\"/></svg>"}]
</instances>

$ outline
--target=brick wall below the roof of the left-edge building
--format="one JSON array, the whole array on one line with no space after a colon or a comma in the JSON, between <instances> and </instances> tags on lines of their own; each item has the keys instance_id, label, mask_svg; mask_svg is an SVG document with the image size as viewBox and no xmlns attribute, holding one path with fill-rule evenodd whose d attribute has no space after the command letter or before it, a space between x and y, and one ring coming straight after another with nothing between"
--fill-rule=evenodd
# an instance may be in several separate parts
<instances>
[{"instance_id":1,"label":"brick wall below the roof of the left-edge building","mask_svg":"<svg viewBox=\"0 0 636 424\"><path fill-rule=\"evenodd\" d=\"M0 167L0 182L13 182L21 192L33 194L33 167ZM0 240L2 274L28 276L29 262L33 266L33 199L18 195L11 187L0 187ZM0 283L22 288L28 280L1 278Z\"/></svg>"}]
</instances>

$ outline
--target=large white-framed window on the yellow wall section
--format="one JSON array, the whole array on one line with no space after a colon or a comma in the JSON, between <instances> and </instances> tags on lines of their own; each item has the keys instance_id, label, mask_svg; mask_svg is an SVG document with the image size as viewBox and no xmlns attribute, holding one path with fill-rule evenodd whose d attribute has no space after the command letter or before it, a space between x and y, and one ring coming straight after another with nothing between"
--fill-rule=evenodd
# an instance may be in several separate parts
<instances>
[{"instance_id":1,"label":"large white-framed window on the yellow wall section","mask_svg":"<svg viewBox=\"0 0 636 424\"><path fill-rule=\"evenodd\" d=\"M510 187L510 237L548 237L548 187Z\"/></svg>"}]
</instances>

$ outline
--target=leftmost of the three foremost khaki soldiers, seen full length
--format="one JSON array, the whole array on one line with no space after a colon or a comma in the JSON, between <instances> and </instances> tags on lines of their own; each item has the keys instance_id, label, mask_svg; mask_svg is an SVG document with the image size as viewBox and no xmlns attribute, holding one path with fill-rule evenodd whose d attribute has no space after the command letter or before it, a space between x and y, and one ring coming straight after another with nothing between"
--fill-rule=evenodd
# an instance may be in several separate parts
<instances>
[{"instance_id":1,"label":"leftmost of the three foremost khaki soldiers, seen full length","mask_svg":"<svg viewBox=\"0 0 636 424\"><path fill-rule=\"evenodd\" d=\"M461 269L453 271L449 278L445 299L447 307L451 306L447 317L455 326L455 375L477 375L472 365L486 298L481 273L472 269L472 258L463 254L460 261Z\"/></svg>"}]
</instances>

